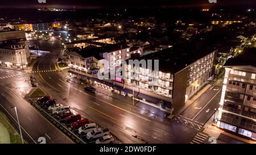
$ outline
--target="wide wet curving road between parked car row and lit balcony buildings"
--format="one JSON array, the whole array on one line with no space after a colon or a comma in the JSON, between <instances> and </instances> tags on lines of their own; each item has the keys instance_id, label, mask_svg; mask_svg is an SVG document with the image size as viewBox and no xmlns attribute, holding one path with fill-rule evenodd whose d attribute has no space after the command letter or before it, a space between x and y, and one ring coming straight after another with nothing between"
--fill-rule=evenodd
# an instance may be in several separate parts
<instances>
[{"instance_id":1,"label":"wide wet curving road between parked car row and lit balcony buildings","mask_svg":"<svg viewBox=\"0 0 256 155\"><path fill-rule=\"evenodd\" d=\"M34 70L55 69L54 61L59 57L55 49L51 55L38 60ZM122 143L189 143L197 130L170 119L142 115L141 108L101 93L89 94L81 85L68 80L61 72L41 72L39 86L57 102L71 106L85 118L101 127L108 126L112 134Z\"/></svg>"}]
</instances>

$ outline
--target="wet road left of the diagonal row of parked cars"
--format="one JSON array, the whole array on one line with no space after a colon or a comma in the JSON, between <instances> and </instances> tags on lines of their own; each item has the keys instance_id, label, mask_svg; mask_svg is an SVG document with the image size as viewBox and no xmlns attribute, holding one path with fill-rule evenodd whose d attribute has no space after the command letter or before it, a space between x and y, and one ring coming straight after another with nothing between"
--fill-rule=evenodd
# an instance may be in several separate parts
<instances>
[{"instance_id":1,"label":"wet road left of the diagonal row of parked cars","mask_svg":"<svg viewBox=\"0 0 256 155\"><path fill-rule=\"evenodd\" d=\"M14 125L16 131L19 131L15 110L11 108L17 107L22 135L27 143L39 143L39 137L45 137L46 143L73 143L23 98L31 90L28 82L30 74L8 69L0 69L0 74L1 77L6 77L0 79L0 109Z\"/></svg>"}]
</instances>

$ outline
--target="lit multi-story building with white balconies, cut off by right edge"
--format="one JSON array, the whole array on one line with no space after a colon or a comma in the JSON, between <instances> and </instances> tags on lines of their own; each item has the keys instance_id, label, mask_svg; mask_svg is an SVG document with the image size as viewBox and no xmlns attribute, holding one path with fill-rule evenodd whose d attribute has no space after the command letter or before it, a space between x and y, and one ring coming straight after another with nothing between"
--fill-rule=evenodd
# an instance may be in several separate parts
<instances>
[{"instance_id":1,"label":"lit multi-story building with white balconies, cut off by right edge","mask_svg":"<svg viewBox=\"0 0 256 155\"><path fill-rule=\"evenodd\" d=\"M230 58L225 67L224 85L217 125L239 135L256 139L256 48L245 48Z\"/></svg>"}]
</instances>

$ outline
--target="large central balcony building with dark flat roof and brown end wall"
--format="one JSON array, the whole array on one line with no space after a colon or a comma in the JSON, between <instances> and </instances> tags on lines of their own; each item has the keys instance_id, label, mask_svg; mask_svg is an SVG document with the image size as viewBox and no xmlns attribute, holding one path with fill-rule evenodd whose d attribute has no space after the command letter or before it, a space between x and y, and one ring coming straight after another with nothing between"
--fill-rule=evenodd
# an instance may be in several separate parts
<instances>
[{"instance_id":1,"label":"large central balcony building with dark flat roof and brown end wall","mask_svg":"<svg viewBox=\"0 0 256 155\"><path fill-rule=\"evenodd\" d=\"M137 98L161 104L176 112L208 79L212 78L216 51L198 51L197 55L167 48L140 57L139 60L159 60L159 70L129 64L123 86L135 89ZM155 65L155 64L153 64ZM128 91L127 91L128 92Z\"/></svg>"}]
</instances>

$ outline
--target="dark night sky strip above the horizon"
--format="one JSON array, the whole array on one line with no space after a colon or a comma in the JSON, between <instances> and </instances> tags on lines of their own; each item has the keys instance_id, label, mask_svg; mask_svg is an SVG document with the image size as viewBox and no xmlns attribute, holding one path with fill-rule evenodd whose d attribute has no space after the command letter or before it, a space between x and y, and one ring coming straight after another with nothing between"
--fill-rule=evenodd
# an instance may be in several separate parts
<instances>
[{"instance_id":1,"label":"dark night sky strip above the horizon","mask_svg":"<svg viewBox=\"0 0 256 155\"><path fill-rule=\"evenodd\" d=\"M255 7L255 0L46 0L46 4L39 4L38 0L0 0L1 8L61 8L61 9L106 9L106 8L172 8L172 7Z\"/></svg>"}]
</instances>

